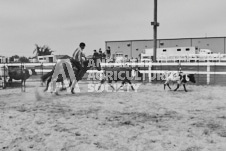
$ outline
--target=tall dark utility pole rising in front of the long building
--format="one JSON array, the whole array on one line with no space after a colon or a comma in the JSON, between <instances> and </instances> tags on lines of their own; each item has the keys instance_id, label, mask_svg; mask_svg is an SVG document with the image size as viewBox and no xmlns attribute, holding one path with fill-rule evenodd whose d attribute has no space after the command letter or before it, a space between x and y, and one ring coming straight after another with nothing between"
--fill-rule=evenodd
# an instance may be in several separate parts
<instances>
[{"instance_id":1,"label":"tall dark utility pole rising in front of the long building","mask_svg":"<svg viewBox=\"0 0 226 151\"><path fill-rule=\"evenodd\" d=\"M156 62L156 54L157 54L157 27L159 23L157 22L157 0L154 0L154 22L151 22L153 26L153 62Z\"/></svg>"}]
</instances>

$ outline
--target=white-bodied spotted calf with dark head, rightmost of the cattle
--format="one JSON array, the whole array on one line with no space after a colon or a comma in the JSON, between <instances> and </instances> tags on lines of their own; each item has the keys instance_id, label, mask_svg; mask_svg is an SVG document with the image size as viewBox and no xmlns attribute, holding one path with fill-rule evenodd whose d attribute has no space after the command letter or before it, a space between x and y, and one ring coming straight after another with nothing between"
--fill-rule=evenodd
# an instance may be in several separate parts
<instances>
[{"instance_id":1,"label":"white-bodied spotted calf with dark head, rightmost of the cattle","mask_svg":"<svg viewBox=\"0 0 226 151\"><path fill-rule=\"evenodd\" d=\"M169 83L177 83L177 87L176 89L174 89L174 91L177 91L177 89L180 87L180 85L182 84L184 87L184 91L187 92L187 89L185 87L185 84L187 82L192 82L195 83L195 76L194 74L185 74L183 72L173 72L173 71L169 71L165 73L165 83L164 83L164 90L166 85L169 87L169 89L171 90L171 87L169 86Z\"/></svg>"}]
</instances>

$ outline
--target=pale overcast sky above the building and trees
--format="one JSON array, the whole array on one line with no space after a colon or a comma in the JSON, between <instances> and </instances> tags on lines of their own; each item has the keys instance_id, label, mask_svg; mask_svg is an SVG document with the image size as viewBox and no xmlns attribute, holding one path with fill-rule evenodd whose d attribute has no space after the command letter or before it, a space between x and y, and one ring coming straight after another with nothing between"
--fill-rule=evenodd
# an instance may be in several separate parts
<instances>
[{"instance_id":1,"label":"pale overcast sky above the building and trees","mask_svg":"<svg viewBox=\"0 0 226 151\"><path fill-rule=\"evenodd\" d=\"M105 49L105 41L152 39L154 0L0 0L0 55ZM159 0L158 38L226 36L226 0Z\"/></svg>"}]
</instances>

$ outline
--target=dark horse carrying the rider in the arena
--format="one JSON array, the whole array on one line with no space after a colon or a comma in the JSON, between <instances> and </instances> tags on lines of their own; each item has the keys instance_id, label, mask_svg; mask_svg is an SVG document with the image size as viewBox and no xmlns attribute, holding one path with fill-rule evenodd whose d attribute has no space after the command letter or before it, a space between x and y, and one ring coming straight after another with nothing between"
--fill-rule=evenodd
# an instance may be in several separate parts
<instances>
[{"instance_id":1,"label":"dark horse carrying the rider in the arena","mask_svg":"<svg viewBox=\"0 0 226 151\"><path fill-rule=\"evenodd\" d=\"M57 69L56 69L57 68ZM53 87L55 88L56 82L62 82L63 80L69 79L70 84L69 87L71 87L71 93L74 94L74 86L75 83L80 81L82 77L85 75L87 70L91 68L96 68L98 71L101 70L100 67L100 59L87 59L83 62L83 68L78 73L78 70L75 68L73 63L69 59L64 59L63 62L59 61L56 63L56 65L53 67L53 70L41 77L42 81L45 82L47 80L46 88L44 91L46 91L49 87L49 83L53 82ZM56 72L56 74L54 74ZM55 92L56 95L58 95L57 92Z\"/></svg>"}]
</instances>

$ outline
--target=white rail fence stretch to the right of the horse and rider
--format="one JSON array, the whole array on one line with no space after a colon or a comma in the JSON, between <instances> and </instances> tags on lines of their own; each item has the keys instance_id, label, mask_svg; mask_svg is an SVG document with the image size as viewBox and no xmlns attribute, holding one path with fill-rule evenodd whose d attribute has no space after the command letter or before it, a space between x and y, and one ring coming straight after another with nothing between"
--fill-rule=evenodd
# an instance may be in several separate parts
<instances>
[{"instance_id":1,"label":"white rail fence stretch to the right of the horse and rider","mask_svg":"<svg viewBox=\"0 0 226 151\"><path fill-rule=\"evenodd\" d=\"M184 63L102 63L102 67L139 67L148 82L162 81L166 71L179 71L195 74L198 85L226 85L225 62L184 62Z\"/></svg>"}]
</instances>

